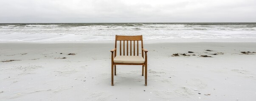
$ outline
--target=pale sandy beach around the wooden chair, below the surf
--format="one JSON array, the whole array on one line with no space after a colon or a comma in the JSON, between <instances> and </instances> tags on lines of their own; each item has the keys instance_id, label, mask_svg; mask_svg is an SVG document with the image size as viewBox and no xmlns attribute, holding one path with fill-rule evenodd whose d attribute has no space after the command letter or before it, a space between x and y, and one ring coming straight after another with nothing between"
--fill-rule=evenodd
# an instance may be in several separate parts
<instances>
[{"instance_id":1,"label":"pale sandy beach around the wooden chair, below the surf","mask_svg":"<svg viewBox=\"0 0 256 101\"><path fill-rule=\"evenodd\" d=\"M111 86L110 50L113 48L113 41L0 43L0 101L256 99L256 53L240 53L256 52L256 43L146 41L148 86L144 86L141 66L125 65L117 66ZM173 57L174 53L196 56ZM60 59L63 57L66 58ZM2 62L8 60L19 61Z\"/></svg>"}]
</instances>

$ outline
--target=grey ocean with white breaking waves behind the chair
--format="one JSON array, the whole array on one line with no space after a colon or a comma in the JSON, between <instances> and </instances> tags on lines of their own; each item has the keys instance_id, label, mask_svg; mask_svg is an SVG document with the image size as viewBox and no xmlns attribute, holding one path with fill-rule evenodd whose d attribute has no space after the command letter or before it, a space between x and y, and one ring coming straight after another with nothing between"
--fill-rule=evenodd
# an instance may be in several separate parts
<instances>
[{"instance_id":1,"label":"grey ocean with white breaking waves behind the chair","mask_svg":"<svg viewBox=\"0 0 256 101\"><path fill-rule=\"evenodd\" d=\"M0 24L0 41L103 41L115 35L143 40L256 39L256 23L33 23Z\"/></svg>"}]
</instances>

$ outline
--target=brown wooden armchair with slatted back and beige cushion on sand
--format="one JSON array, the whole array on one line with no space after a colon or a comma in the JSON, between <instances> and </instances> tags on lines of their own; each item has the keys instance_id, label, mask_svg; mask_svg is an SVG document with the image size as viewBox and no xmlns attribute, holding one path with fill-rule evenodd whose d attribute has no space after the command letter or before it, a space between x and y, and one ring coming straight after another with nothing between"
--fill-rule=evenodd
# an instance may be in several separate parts
<instances>
[{"instance_id":1,"label":"brown wooden armchair with slatted back and beige cushion on sand","mask_svg":"<svg viewBox=\"0 0 256 101\"><path fill-rule=\"evenodd\" d=\"M120 56L116 56L116 46L117 42L120 43ZM141 41L141 56L139 56L139 41ZM122 42L123 42L123 54L122 54ZM137 55L135 55L135 43L137 42ZM132 54L132 43L133 43L133 54ZM125 54L125 44L126 54ZM130 46L130 49L129 49ZM130 51L129 51L130 50ZM111 55L111 85L114 85L113 67L115 66L116 75L116 65L142 65L142 76L145 67L145 86L147 85L147 50L143 48L142 35L139 36L121 36L115 35L115 48L110 50ZM144 58L145 52L145 58ZM114 56L115 55L115 56Z\"/></svg>"}]
</instances>

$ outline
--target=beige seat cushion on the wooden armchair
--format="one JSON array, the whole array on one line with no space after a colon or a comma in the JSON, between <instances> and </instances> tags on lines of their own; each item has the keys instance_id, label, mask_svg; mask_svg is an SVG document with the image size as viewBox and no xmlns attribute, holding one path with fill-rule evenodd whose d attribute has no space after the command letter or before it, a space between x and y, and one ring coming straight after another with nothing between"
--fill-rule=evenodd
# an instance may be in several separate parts
<instances>
[{"instance_id":1,"label":"beige seat cushion on the wooden armchair","mask_svg":"<svg viewBox=\"0 0 256 101\"><path fill-rule=\"evenodd\" d=\"M142 56L115 56L114 63L141 64L145 60Z\"/></svg>"}]
</instances>

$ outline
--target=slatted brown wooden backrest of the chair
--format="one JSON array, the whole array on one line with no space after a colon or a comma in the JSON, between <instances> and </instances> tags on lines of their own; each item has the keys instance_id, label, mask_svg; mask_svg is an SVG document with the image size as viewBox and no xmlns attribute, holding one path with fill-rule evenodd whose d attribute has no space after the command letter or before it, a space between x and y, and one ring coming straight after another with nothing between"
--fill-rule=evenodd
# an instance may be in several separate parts
<instances>
[{"instance_id":1,"label":"slatted brown wooden backrest of the chair","mask_svg":"<svg viewBox=\"0 0 256 101\"><path fill-rule=\"evenodd\" d=\"M122 55L123 56L135 56L135 55L139 56L139 41L141 41L141 48L143 48L142 35L138 35L138 36L115 35L115 48L116 49L118 49L117 48L118 41L119 41L119 47L120 47L119 48L120 56L122 56ZM137 45L135 45L136 43L137 43ZM133 49L132 49L132 45L133 45ZM137 51L135 51L135 46L137 47ZM123 53L122 53L122 48L123 48ZM141 52L141 53L143 56L143 52ZM115 50L115 56L116 56L116 50Z\"/></svg>"}]
</instances>

